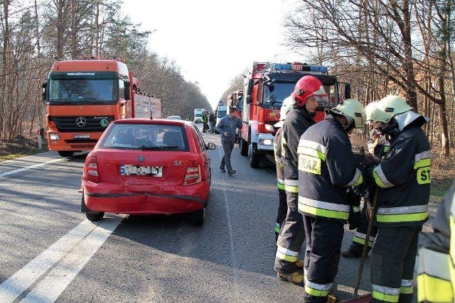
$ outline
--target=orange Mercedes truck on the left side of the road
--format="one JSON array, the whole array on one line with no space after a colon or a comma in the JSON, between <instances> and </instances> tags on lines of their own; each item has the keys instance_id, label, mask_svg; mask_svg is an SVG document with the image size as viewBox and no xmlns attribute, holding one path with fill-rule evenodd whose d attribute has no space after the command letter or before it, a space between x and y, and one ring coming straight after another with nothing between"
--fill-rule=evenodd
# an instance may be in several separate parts
<instances>
[{"instance_id":1,"label":"orange Mercedes truck on the left side of the road","mask_svg":"<svg viewBox=\"0 0 455 303\"><path fill-rule=\"evenodd\" d=\"M43 83L49 150L62 157L92 150L114 120L161 117L161 101L138 83L119 60L55 61Z\"/></svg>"}]
</instances>

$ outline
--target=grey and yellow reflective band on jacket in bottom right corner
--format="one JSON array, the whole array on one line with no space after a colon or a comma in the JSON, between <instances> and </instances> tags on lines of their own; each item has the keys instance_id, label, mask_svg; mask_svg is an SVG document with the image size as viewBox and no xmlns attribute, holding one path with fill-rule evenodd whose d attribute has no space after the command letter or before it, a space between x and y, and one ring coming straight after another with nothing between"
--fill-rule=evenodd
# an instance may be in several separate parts
<instances>
[{"instance_id":1,"label":"grey and yellow reflective band on jacket in bottom right corner","mask_svg":"<svg viewBox=\"0 0 455 303\"><path fill-rule=\"evenodd\" d=\"M419 249L418 302L454 302L449 266L450 258L446 253Z\"/></svg>"}]
</instances>

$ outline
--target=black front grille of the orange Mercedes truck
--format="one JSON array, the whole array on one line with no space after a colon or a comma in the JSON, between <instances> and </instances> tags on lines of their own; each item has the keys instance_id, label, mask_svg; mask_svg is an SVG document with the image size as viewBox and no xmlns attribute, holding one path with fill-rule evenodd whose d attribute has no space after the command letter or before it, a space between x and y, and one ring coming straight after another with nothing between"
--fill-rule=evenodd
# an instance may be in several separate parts
<instances>
[{"instance_id":1,"label":"black front grille of the orange Mercedes truck","mask_svg":"<svg viewBox=\"0 0 455 303\"><path fill-rule=\"evenodd\" d=\"M114 120L114 116L50 116L61 133L75 132L103 132L107 124Z\"/></svg>"}]
</instances>

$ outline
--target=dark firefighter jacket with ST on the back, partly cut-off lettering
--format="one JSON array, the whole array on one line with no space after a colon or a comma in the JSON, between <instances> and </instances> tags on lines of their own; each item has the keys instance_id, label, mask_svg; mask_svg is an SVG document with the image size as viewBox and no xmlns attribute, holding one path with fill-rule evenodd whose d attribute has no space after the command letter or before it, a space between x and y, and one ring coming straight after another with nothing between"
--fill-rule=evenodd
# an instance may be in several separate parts
<instances>
[{"instance_id":1,"label":"dark firefighter jacket with ST on the back, partly cut-off lettering","mask_svg":"<svg viewBox=\"0 0 455 303\"><path fill-rule=\"evenodd\" d=\"M419 226L427 221L431 153L420 125L400 126L395 138L390 137L385 160L373 170L380 187L375 214L378 226Z\"/></svg>"}]
</instances>

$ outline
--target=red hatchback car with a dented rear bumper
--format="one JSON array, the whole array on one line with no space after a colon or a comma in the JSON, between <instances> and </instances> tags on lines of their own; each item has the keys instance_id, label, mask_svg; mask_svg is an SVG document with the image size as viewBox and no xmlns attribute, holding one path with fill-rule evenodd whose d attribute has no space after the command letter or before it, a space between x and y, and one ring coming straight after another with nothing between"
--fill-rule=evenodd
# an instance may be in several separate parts
<instances>
[{"instance_id":1,"label":"red hatchback car with a dented rear bumper","mask_svg":"<svg viewBox=\"0 0 455 303\"><path fill-rule=\"evenodd\" d=\"M105 212L189 213L203 225L214 149L191 121L114 121L85 160L81 210L90 221Z\"/></svg>"}]
</instances>

